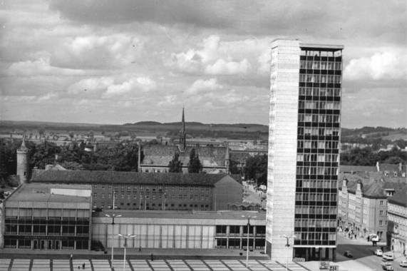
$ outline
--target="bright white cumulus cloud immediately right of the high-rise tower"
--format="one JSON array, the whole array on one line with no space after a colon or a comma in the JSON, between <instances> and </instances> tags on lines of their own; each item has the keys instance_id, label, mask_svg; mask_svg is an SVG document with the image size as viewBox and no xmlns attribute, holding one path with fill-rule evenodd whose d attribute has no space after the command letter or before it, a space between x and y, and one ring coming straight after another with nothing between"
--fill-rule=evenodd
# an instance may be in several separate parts
<instances>
[{"instance_id":1,"label":"bright white cumulus cloud immediately right of the high-rise tower","mask_svg":"<svg viewBox=\"0 0 407 271\"><path fill-rule=\"evenodd\" d=\"M383 52L371 57L352 59L344 70L348 80L393 80L407 76L406 53Z\"/></svg>"}]
</instances>

